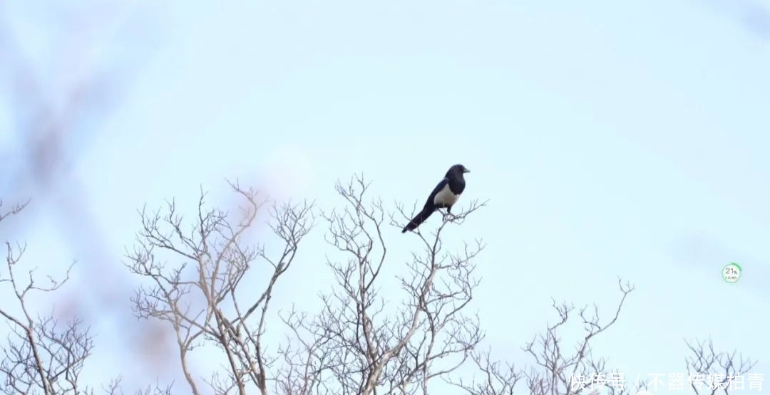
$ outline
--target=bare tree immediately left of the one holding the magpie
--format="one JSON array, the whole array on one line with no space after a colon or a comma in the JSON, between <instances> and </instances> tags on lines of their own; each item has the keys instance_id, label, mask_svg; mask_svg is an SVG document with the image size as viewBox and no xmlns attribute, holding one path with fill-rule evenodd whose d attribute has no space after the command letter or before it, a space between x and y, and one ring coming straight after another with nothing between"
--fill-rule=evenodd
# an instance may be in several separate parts
<instances>
[{"instance_id":1,"label":"bare tree immediately left of the one holding the magpie","mask_svg":"<svg viewBox=\"0 0 770 395\"><path fill-rule=\"evenodd\" d=\"M179 363L192 393L202 390L189 367L189 354L196 347L212 344L228 367L223 375L214 373L207 380L215 393L236 390L243 395L256 388L266 394L266 371L271 363L262 344L266 313L276 281L289 269L300 241L312 227L312 204L273 206L273 233L283 243L283 251L269 257L264 247L243 241L263 202L252 189L230 186L245 202L243 215L235 220L219 209L206 209L203 191L190 226L182 224L173 201L155 214L142 210L142 231L126 264L149 283L133 298L135 313L172 327ZM167 266L164 257L176 262ZM260 261L269 265L270 273L261 294L249 300L239 285ZM249 284L252 287L253 281Z\"/></svg>"}]
</instances>

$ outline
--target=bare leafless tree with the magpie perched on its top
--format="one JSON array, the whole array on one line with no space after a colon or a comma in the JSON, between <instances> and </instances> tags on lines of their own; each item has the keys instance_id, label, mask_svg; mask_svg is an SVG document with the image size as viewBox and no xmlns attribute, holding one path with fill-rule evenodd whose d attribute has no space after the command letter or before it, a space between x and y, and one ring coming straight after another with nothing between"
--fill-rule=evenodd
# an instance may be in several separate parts
<instances>
[{"instance_id":1,"label":"bare leafless tree with the magpie perched on its top","mask_svg":"<svg viewBox=\"0 0 770 395\"><path fill-rule=\"evenodd\" d=\"M447 251L441 234L484 204L473 201L465 211L445 215L434 234L417 231L423 251L412 254L391 284L403 296L397 302L380 294L386 266L397 262L387 259L387 214L382 201L367 201L368 187L363 177L338 183L345 205L323 213L326 240L340 252L338 260L327 261L336 284L321 296L316 317L284 316L295 337L294 347L282 349L286 364L276 379L281 393L429 393L430 380L456 370L483 338L478 318L465 310L478 285L474 258L484 244ZM388 217L390 225L403 224Z\"/></svg>"}]
</instances>

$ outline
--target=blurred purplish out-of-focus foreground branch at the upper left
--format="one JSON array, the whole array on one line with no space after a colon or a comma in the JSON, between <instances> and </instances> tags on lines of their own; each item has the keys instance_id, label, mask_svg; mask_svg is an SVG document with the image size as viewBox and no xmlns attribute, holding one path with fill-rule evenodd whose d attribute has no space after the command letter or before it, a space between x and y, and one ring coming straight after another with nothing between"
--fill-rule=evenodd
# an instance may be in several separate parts
<instances>
[{"instance_id":1,"label":"blurred purplish out-of-focus foreground branch at the upper left","mask_svg":"<svg viewBox=\"0 0 770 395\"><path fill-rule=\"evenodd\" d=\"M109 260L112 254L104 249L109 243L99 241L103 234L100 217L91 212L89 194L74 170L97 140L102 130L99 122L119 103L122 88L131 86L132 77L142 70L146 51L153 48L154 40L141 37L153 31L144 23L146 18L136 18L137 12L143 11L137 5L115 2L94 8L62 3L54 6L52 24L46 18L52 11L46 7L19 8L0 2L0 101L8 105L12 117L7 133L17 141L0 147L0 157L18 158L4 163L8 178L0 188L5 194L28 195L41 204L51 204L54 210L46 218L59 225L65 245L79 255L87 269ZM15 11L21 12L15 15ZM33 20L24 21L29 16ZM10 23L17 18L21 23ZM44 20L35 20L40 18ZM35 37L44 39L29 40L22 35L23 30L15 29L25 22L36 26ZM142 45L129 47L123 39L126 37L139 38ZM29 47L34 42L48 48L40 51ZM132 48L140 48L141 53L129 51ZM32 53L36 55L30 56ZM120 61L124 56L131 61ZM14 152L2 152L6 150ZM93 268L102 273L113 267ZM125 277L115 278L122 281ZM91 284L99 297L85 298L84 302L109 304L118 289L114 284L102 287L98 280Z\"/></svg>"}]
</instances>

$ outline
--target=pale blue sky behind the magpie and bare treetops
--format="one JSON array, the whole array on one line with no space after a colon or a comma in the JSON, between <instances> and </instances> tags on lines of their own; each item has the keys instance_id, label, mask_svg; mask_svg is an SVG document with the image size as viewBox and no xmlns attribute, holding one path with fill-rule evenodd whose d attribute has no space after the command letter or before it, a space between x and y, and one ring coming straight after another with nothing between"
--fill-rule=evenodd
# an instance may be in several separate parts
<instances>
[{"instance_id":1,"label":"pale blue sky behind the magpie and bare treetops","mask_svg":"<svg viewBox=\"0 0 770 395\"><path fill-rule=\"evenodd\" d=\"M451 236L487 242L474 308L496 357L525 360L551 298L611 314L621 277L636 289L594 351L627 377L682 372L685 340L708 338L770 373L770 3L68 3L0 2L0 193L32 199L0 238L50 271L77 261L62 292L97 334L94 380L178 377L122 347L147 325L121 263L144 204L192 212L202 185L226 204L238 178L330 208L360 173L391 207L421 204L455 163L460 206L489 200ZM65 111L92 76L55 178L30 181L18 98ZM279 306L329 289L323 231ZM392 265L419 247L386 241Z\"/></svg>"}]
</instances>

